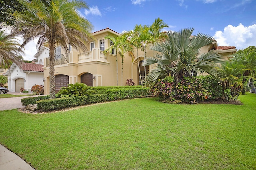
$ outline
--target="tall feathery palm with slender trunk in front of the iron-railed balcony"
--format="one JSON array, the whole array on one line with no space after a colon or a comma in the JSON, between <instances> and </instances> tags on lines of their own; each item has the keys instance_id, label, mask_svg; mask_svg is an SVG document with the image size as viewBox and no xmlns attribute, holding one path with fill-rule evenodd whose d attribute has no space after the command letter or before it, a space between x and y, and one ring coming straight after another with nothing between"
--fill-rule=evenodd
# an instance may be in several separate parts
<instances>
[{"instance_id":1,"label":"tall feathery palm with slender trunk in front of the iron-railed balcony","mask_svg":"<svg viewBox=\"0 0 256 170\"><path fill-rule=\"evenodd\" d=\"M68 45L86 51L91 39L92 24L78 14L79 8L88 8L82 0L31 0L27 2L26 14L16 13L20 19L12 29L13 35L22 36L24 47L29 41L39 38L37 48L49 47L50 98L55 98L54 48L61 45L68 53Z\"/></svg>"}]
</instances>

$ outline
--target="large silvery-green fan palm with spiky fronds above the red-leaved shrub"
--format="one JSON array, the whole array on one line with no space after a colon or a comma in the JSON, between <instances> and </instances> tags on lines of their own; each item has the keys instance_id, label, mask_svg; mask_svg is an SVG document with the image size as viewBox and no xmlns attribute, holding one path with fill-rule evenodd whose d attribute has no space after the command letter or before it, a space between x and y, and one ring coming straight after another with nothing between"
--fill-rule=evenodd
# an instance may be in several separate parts
<instances>
[{"instance_id":1,"label":"large silvery-green fan palm with spiky fronds above the red-leaved shrub","mask_svg":"<svg viewBox=\"0 0 256 170\"><path fill-rule=\"evenodd\" d=\"M192 36L193 31L194 28L168 31L165 41L152 47L159 53L145 62L145 65L155 64L148 74L151 85L170 75L176 78L176 82L184 76L195 76L197 72L218 76L216 66L222 63L221 55L212 50L198 56L200 48L214 42L214 39L202 33Z\"/></svg>"}]
</instances>

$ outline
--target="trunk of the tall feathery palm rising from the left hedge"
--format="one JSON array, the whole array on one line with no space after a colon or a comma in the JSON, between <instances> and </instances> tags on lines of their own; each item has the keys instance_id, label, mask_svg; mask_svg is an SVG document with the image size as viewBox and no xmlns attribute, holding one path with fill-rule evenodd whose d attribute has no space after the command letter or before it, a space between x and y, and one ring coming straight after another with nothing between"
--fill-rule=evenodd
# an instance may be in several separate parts
<instances>
[{"instance_id":1,"label":"trunk of the tall feathery palm rising from the left hedge","mask_svg":"<svg viewBox=\"0 0 256 170\"><path fill-rule=\"evenodd\" d=\"M54 43L49 43L49 76L50 76L50 99L55 98L55 77L54 77Z\"/></svg>"}]
</instances>

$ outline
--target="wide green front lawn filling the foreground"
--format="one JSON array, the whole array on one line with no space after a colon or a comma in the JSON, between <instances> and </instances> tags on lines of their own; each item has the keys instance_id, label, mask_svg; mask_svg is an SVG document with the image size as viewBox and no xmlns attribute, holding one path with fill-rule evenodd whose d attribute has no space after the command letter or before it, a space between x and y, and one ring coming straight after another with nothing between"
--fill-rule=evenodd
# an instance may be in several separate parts
<instances>
[{"instance_id":1,"label":"wide green front lawn filling the foreground","mask_svg":"<svg viewBox=\"0 0 256 170\"><path fill-rule=\"evenodd\" d=\"M139 98L49 114L0 111L0 143L36 170L256 169L256 94L242 106Z\"/></svg>"}]
</instances>

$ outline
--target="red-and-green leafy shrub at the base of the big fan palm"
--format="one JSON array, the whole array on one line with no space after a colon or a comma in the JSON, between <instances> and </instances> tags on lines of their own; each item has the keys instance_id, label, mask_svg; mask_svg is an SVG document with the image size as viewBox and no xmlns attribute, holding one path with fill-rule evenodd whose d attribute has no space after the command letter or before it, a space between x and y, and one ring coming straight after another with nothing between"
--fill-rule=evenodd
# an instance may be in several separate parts
<instances>
[{"instance_id":1,"label":"red-and-green leafy shrub at the base of the big fan palm","mask_svg":"<svg viewBox=\"0 0 256 170\"><path fill-rule=\"evenodd\" d=\"M153 96L160 100L168 100L174 102L181 100L189 104L196 101L204 101L211 98L211 93L205 90L198 78L184 77L178 84L174 84L173 78L167 77L163 80L158 80L155 86L151 89Z\"/></svg>"}]
</instances>

